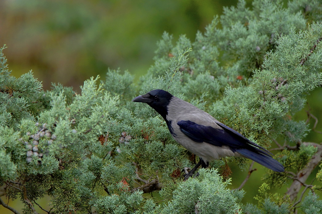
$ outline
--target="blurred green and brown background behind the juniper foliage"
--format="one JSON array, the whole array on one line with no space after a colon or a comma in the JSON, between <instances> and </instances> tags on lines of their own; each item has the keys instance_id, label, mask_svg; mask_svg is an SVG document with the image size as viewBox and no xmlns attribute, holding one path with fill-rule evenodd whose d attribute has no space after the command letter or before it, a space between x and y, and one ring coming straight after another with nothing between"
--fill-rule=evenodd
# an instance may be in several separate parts
<instances>
[{"instance_id":1,"label":"blurred green and brown background behind the juniper foliage","mask_svg":"<svg viewBox=\"0 0 322 214\"><path fill-rule=\"evenodd\" d=\"M251 1L246 2L251 7ZM194 41L197 30L204 32L213 16L223 13L223 6L236 4L237 0L0 0L0 45L8 47L4 54L14 76L33 70L44 89L60 82L80 92L84 80L96 75L104 79L108 68L128 70L138 79L153 64L156 42L164 31L173 34L174 41L181 34ZM321 94L321 88L313 91L309 106L296 117L306 120L310 107L321 118ZM321 123L317 130L322 130ZM304 140L322 141L314 132ZM247 172L231 167L231 188L237 188ZM259 168L244 186L245 204L256 203L253 197L265 172ZM279 192L286 191L285 186ZM39 203L45 208L48 200ZM9 205L20 212L23 206L19 199ZM0 206L0 213L12 212Z\"/></svg>"}]
</instances>

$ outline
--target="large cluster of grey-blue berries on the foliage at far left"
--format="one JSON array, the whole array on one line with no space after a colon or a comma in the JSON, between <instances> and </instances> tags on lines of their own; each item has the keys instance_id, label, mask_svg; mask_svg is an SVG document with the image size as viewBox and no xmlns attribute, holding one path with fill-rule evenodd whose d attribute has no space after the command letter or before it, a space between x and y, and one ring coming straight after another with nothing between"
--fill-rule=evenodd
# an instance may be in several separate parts
<instances>
[{"instance_id":1,"label":"large cluster of grey-blue berries on the foliage at far left","mask_svg":"<svg viewBox=\"0 0 322 214\"><path fill-rule=\"evenodd\" d=\"M37 127L39 126L39 123L35 124ZM38 158L38 164L41 164L41 158L43 158L43 149L38 148L39 141L41 138L45 138L47 140L47 144L51 145L54 140L56 140L56 135L52 134L50 130L46 127L47 124L43 124L39 126L38 132L35 134L31 134L30 132L27 132L27 135L29 136L29 140L33 140L31 143L28 141L24 141L24 144L26 145L26 148L28 149L26 155L26 162L31 163L33 161L33 157ZM22 140L22 139L20 139Z\"/></svg>"}]
</instances>

